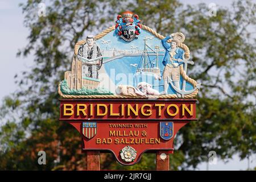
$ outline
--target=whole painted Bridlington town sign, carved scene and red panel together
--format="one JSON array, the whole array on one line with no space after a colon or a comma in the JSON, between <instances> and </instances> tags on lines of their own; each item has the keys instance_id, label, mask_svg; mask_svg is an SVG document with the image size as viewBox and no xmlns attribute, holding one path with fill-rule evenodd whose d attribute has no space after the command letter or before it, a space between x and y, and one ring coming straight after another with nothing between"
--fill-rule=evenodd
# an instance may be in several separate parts
<instances>
[{"instance_id":1,"label":"whole painted Bridlington town sign, carved scene and red panel together","mask_svg":"<svg viewBox=\"0 0 256 182\"><path fill-rule=\"evenodd\" d=\"M60 121L79 131L89 163L99 161L98 151L113 152L123 165L138 163L144 152L168 159L177 131L196 120L201 85L187 75L194 63L184 41L181 32L165 37L125 11L76 43L58 88Z\"/></svg>"}]
</instances>

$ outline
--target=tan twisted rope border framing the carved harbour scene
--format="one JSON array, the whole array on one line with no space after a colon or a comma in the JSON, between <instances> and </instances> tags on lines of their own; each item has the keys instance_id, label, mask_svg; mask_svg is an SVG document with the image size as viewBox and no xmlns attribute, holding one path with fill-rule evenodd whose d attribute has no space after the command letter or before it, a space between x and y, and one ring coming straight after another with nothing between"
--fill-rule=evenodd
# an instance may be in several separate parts
<instances>
[{"instance_id":1,"label":"tan twisted rope border framing the carved harbour scene","mask_svg":"<svg viewBox=\"0 0 256 182\"><path fill-rule=\"evenodd\" d=\"M152 30L152 28L150 28L150 27L142 25L142 29L150 32L152 35L156 36L157 38L159 38L161 40L165 38L163 35L158 34L156 31ZM115 30L115 26L111 26L109 28L106 28L103 32L101 32L100 34L96 35L95 39L98 40L98 39L104 37L106 34L108 34L109 32L111 32L113 30ZM77 55L77 53L79 51L79 47L82 44L85 44L85 42L86 42L86 40L80 40L79 42L77 42L75 44L75 48L74 48L75 56ZM168 42L171 42L171 40L168 40ZM190 56L189 48L185 44L183 44L183 43L178 43L177 46L184 49L184 51L185 51L185 58L188 59L189 56ZM196 87L197 82L195 80L193 80L192 78L189 78L187 76L187 74L184 72L183 65L180 66L180 74L184 78L184 80L186 80L189 83L191 83L194 86L194 88ZM63 97L63 98L148 98L148 97L121 96L121 95L89 95L89 96L66 95L66 94L63 94L61 92L60 84L58 86L58 92L59 92L59 95L61 97ZM199 92L199 89L196 89L193 93L185 95L184 98L195 98L198 92ZM161 96L153 97L153 98L178 98L178 97L177 97L176 94L167 94L167 95L161 95Z\"/></svg>"}]
</instances>

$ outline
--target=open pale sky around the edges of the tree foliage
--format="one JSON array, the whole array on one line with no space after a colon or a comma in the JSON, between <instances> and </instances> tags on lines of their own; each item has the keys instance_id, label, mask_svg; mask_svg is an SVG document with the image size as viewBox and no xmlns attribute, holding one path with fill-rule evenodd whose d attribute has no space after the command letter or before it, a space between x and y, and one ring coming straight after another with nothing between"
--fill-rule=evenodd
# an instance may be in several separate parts
<instances>
[{"instance_id":1,"label":"open pale sky around the edges of the tree foliage","mask_svg":"<svg viewBox=\"0 0 256 182\"><path fill-rule=\"evenodd\" d=\"M22 10L18 7L18 3L20 2L26 1L0 0L0 77L2 85L0 89L0 100L17 90L17 85L14 83L14 75L16 73L21 75L22 71L29 71L33 63L33 55L26 57L26 59L16 57L18 49L26 46L26 38L29 35L28 29L23 27ZM191 5L200 2L207 4L216 3L216 5L226 7L229 7L232 3L232 1L223 0L181 0L181 2ZM224 163L218 159L216 165L209 165L209 170L245 170L248 164L250 168L256 167L256 155L251 156L250 163L248 163L248 160L240 161L237 155L233 156L233 159L229 160L228 163ZM205 170L207 169L207 164L201 163L198 168L199 170Z\"/></svg>"}]
</instances>

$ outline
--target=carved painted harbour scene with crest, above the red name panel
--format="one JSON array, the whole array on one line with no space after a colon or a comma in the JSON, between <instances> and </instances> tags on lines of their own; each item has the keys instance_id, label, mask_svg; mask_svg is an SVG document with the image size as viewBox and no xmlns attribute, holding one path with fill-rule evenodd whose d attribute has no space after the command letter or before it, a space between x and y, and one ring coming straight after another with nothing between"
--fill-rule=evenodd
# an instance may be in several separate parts
<instances>
[{"instance_id":1,"label":"carved painted harbour scene with crest, above the red name panel","mask_svg":"<svg viewBox=\"0 0 256 182\"><path fill-rule=\"evenodd\" d=\"M194 98L200 88L187 76L185 36L166 37L125 11L115 26L76 43L71 71L59 85L64 98Z\"/></svg>"}]
</instances>

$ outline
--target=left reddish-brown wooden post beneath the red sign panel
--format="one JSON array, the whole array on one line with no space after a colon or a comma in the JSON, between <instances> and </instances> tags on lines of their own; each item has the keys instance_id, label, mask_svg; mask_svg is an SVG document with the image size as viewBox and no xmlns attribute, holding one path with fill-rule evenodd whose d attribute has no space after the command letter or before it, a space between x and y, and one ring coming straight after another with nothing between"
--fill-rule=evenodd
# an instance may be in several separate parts
<instances>
[{"instance_id":1,"label":"left reddish-brown wooden post beneath the red sign panel","mask_svg":"<svg viewBox=\"0 0 256 182\"><path fill-rule=\"evenodd\" d=\"M100 151L87 151L87 171L100 171Z\"/></svg>"}]
</instances>

